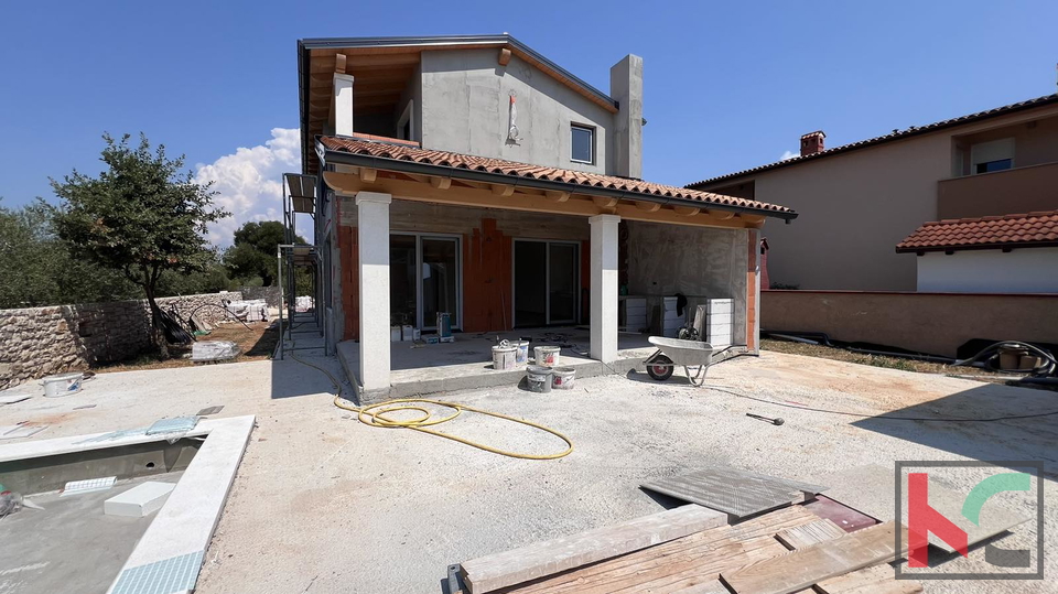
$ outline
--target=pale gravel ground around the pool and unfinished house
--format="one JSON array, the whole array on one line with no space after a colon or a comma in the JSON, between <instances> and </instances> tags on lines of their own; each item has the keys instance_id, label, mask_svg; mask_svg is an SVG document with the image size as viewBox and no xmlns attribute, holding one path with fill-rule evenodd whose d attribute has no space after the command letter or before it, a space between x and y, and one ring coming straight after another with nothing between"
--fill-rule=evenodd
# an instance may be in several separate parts
<instances>
[{"instance_id":1,"label":"pale gravel ground around the pool and unfinished house","mask_svg":"<svg viewBox=\"0 0 1058 594\"><path fill-rule=\"evenodd\" d=\"M336 364L327 365L337 372ZM646 375L591 378L551 395L503 388L442 397L565 433L574 452L550 462L365 426L332 406L322 374L293 361L104 374L73 397L97 408L51 412L55 425L41 438L137 426L209 404L225 404L222 417L256 413L258 428L206 553L197 590L206 594L436 593L451 563L658 511L661 504L638 488L641 482L713 463L812 482L895 460L1044 460L1047 498L1058 496L1055 417L990 423L872 418L1052 411L1052 392L780 353L717 365L705 388L678 377L665 384ZM32 409L43 400L23 407L19 420L44 417ZM9 408L0 419L13 418ZM526 453L564 445L469 413L442 431ZM1054 505L1045 515L1049 527L1058 526ZM1051 582L926 582L926 592L1055 592L1058 533L1045 537ZM1001 543L1015 548L1035 538L1025 527ZM971 553L981 555L983 549Z\"/></svg>"}]
</instances>

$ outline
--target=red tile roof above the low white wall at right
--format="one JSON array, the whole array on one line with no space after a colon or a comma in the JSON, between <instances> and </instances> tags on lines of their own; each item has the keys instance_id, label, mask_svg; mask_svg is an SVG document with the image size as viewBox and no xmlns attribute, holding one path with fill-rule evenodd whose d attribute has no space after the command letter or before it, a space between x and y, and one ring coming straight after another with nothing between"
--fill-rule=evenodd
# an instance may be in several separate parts
<instances>
[{"instance_id":1,"label":"red tile roof above the low white wall at right","mask_svg":"<svg viewBox=\"0 0 1058 594\"><path fill-rule=\"evenodd\" d=\"M940 251L1017 246L1058 246L1058 210L927 223L896 251Z\"/></svg>"}]
</instances>

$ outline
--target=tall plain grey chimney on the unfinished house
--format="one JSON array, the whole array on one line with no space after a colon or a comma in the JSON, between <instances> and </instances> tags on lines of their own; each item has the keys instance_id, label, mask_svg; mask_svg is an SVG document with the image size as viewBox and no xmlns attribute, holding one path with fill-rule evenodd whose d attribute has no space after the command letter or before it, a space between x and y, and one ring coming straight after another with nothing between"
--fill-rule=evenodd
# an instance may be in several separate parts
<instances>
[{"instance_id":1,"label":"tall plain grey chimney on the unfinished house","mask_svg":"<svg viewBox=\"0 0 1058 594\"><path fill-rule=\"evenodd\" d=\"M617 101L612 133L614 174L643 177L643 58L628 54L609 69L609 96Z\"/></svg>"}]
</instances>

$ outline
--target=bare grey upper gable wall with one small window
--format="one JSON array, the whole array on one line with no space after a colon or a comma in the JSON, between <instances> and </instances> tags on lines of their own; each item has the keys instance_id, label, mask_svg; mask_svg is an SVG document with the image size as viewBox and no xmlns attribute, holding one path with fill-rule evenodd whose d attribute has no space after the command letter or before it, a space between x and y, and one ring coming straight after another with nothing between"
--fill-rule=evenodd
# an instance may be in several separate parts
<instances>
[{"instance_id":1,"label":"bare grey upper gable wall with one small window","mask_svg":"<svg viewBox=\"0 0 1058 594\"><path fill-rule=\"evenodd\" d=\"M500 66L496 50L423 52L421 67L423 148L616 173L609 158L614 115L517 56ZM517 142L507 138L511 91ZM595 128L594 164L570 160L571 123Z\"/></svg>"}]
</instances>

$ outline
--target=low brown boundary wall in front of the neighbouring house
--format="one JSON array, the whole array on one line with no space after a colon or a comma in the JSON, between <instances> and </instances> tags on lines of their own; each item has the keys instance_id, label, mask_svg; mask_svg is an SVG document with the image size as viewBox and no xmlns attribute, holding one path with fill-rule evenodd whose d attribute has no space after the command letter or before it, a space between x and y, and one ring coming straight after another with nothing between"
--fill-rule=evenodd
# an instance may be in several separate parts
<instances>
[{"instance_id":1,"label":"low brown boundary wall in front of the neighbouring house","mask_svg":"<svg viewBox=\"0 0 1058 594\"><path fill-rule=\"evenodd\" d=\"M760 330L958 356L971 339L1058 344L1058 294L760 291Z\"/></svg>"}]
</instances>

